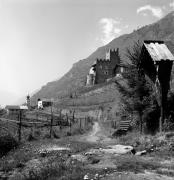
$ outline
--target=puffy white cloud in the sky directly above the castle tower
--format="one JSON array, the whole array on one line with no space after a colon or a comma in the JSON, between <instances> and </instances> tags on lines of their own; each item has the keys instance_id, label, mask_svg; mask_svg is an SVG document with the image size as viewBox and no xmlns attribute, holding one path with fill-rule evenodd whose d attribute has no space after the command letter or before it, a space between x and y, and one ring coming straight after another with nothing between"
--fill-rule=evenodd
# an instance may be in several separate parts
<instances>
[{"instance_id":1,"label":"puffy white cloud in the sky directly above the castle tower","mask_svg":"<svg viewBox=\"0 0 174 180\"><path fill-rule=\"evenodd\" d=\"M99 21L102 29L101 41L105 45L112 41L115 37L120 35L121 28L117 27L120 24L120 20L115 20L112 18L102 18Z\"/></svg>"}]
</instances>

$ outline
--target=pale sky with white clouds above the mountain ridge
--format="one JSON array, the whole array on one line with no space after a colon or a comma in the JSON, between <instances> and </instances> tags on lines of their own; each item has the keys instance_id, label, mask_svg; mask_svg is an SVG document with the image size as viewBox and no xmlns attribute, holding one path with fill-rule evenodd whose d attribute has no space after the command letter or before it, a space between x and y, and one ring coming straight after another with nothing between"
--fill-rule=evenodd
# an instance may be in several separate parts
<instances>
[{"instance_id":1,"label":"pale sky with white clouds above the mountain ridge","mask_svg":"<svg viewBox=\"0 0 174 180\"><path fill-rule=\"evenodd\" d=\"M0 104L59 79L98 47L172 10L174 0L0 0Z\"/></svg>"}]
</instances>

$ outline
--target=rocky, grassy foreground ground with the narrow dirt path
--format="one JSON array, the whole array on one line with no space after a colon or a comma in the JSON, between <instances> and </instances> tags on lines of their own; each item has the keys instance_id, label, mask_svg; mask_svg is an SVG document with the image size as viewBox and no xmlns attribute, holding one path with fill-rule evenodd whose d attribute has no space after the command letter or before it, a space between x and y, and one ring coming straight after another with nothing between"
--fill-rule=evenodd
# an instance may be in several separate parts
<instances>
[{"instance_id":1,"label":"rocky, grassy foreground ground with the narrow dirt path","mask_svg":"<svg viewBox=\"0 0 174 180\"><path fill-rule=\"evenodd\" d=\"M136 139L132 145L129 136L111 138L109 132L95 122L92 131L85 135L24 143L1 158L0 177L10 180L172 180L174 133L155 137L158 141L150 137L141 137L140 141L131 134L131 140Z\"/></svg>"}]
</instances>

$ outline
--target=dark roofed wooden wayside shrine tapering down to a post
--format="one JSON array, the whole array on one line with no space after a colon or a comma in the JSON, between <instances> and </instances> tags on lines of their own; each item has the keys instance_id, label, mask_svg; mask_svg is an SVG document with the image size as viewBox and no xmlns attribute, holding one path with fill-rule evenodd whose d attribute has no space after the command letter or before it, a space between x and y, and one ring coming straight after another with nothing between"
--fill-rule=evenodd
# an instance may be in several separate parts
<instances>
[{"instance_id":1,"label":"dark roofed wooden wayside shrine tapering down to a post","mask_svg":"<svg viewBox=\"0 0 174 180\"><path fill-rule=\"evenodd\" d=\"M144 41L140 58L145 74L154 83L157 101L161 107L161 119L163 120L174 56L164 41L149 40Z\"/></svg>"}]
</instances>

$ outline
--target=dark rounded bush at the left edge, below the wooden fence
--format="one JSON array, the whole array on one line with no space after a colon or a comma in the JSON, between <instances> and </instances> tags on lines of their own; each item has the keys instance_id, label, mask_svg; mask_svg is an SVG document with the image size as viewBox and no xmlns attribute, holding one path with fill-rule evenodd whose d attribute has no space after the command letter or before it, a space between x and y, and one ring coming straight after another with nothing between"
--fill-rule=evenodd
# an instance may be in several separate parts
<instances>
[{"instance_id":1,"label":"dark rounded bush at the left edge, below the wooden fence","mask_svg":"<svg viewBox=\"0 0 174 180\"><path fill-rule=\"evenodd\" d=\"M0 136L0 157L18 146L17 141L11 135Z\"/></svg>"}]
</instances>

